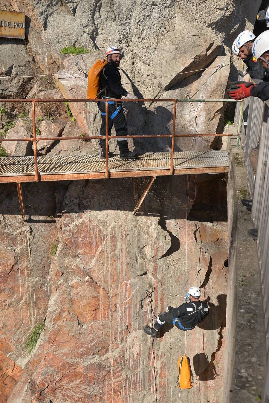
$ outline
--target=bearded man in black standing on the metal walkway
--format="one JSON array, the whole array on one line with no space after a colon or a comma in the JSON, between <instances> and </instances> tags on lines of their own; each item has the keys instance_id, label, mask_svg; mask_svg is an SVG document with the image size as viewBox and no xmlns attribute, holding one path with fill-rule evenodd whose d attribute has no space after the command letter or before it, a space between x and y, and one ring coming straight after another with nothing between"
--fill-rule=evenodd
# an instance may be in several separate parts
<instances>
[{"instance_id":1,"label":"bearded man in black standing on the metal walkway","mask_svg":"<svg viewBox=\"0 0 269 403\"><path fill-rule=\"evenodd\" d=\"M102 98L115 98L119 99L122 96L128 99L138 99L135 95L130 94L122 87L120 71L118 69L120 60L122 58L122 52L117 46L110 46L106 50L106 57L108 63L104 66L100 75L100 88L103 91ZM101 128L100 136L106 135L106 104L105 102L99 102L98 108L101 112ZM110 101L108 104L108 135L111 136L111 129L114 125L117 136L128 135L127 122L123 113L122 103ZM128 148L128 141L126 138L117 140L117 144L120 150L120 158L122 160L130 160L137 158L137 153L134 153ZM106 158L106 139L100 139L99 145L101 146L101 158ZM109 157L113 156L113 153L108 153Z\"/></svg>"}]
</instances>

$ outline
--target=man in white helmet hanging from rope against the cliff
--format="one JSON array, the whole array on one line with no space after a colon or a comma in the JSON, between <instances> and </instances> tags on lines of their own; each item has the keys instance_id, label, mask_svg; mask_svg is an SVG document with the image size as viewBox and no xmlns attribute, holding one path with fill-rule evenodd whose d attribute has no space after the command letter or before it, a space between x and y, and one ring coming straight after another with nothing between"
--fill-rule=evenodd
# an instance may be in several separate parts
<instances>
[{"instance_id":1,"label":"man in white helmet hanging from rope against the cliff","mask_svg":"<svg viewBox=\"0 0 269 403\"><path fill-rule=\"evenodd\" d=\"M168 306L165 312L160 312L153 328L144 326L144 332L153 339L165 323L173 324L179 330L192 330L196 325L203 322L209 314L207 303L200 301L201 290L198 286L192 286L186 297L182 298L184 303L177 308Z\"/></svg>"}]
</instances>

